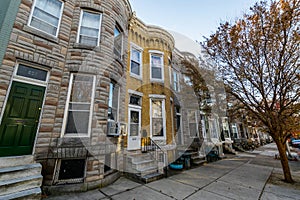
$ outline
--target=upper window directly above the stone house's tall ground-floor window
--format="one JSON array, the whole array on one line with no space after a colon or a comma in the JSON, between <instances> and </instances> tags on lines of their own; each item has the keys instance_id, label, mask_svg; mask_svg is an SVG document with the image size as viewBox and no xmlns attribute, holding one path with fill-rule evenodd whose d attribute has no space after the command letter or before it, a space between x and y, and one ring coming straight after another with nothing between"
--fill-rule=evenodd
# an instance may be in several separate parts
<instances>
[{"instance_id":1,"label":"upper window directly above the stone house's tall ground-floor window","mask_svg":"<svg viewBox=\"0 0 300 200\"><path fill-rule=\"evenodd\" d=\"M81 11L77 42L89 46L98 46L100 40L101 14Z\"/></svg>"}]
</instances>

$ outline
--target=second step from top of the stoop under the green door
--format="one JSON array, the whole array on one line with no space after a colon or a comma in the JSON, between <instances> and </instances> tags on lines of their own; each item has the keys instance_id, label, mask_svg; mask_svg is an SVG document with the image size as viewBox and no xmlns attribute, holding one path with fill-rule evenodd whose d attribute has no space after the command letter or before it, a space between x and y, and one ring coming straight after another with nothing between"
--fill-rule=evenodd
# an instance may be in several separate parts
<instances>
[{"instance_id":1,"label":"second step from top of the stoop under the green door","mask_svg":"<svg viewBox=\"0 0 300 200\"><path fill-rule=\"evenodd\" d=\"M23 178L27 176L41 174L42 165L40 163L0 168L0 182L9 179Z\"/></svg>"}]
</instances>

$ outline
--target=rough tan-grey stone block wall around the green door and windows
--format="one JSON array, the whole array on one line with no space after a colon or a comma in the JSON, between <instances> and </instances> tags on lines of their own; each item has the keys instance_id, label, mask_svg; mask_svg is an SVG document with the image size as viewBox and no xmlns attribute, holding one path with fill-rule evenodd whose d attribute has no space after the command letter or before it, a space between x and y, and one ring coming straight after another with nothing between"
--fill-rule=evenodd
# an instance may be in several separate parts
<instances>
[{"instance_id":1,"label":"rough tan-grey stone block wall around the green door and windows","mask_svg":"<svg viewBox=\"0 0 300 200\"><path fill-rule=\"evenodd\" d=\"M57 160L86 157L84 182L104 178L105 155L115 153L117 138L106 137L109 83L120 85L120 121L125 121L125 91L127 71L128 20L131 7L128 0L63 1L63 13L57 37L28 25L33 0L21 0L9 37L3 63L0 66L0 113L5 109L9 88L18 63L49 71L49 80L41 112L33 154L43 165L44 185L51 185L58 173ZM76 43L81 9L102 14L99 46ZM123 56L114 56L114 28L122 29ZM96 76L92 130L88 138L67 138L62 130L71 72ZM90 150L82 154L81 150ZM57 153L59 152L60 153ZM56 153L55 153L56 152ZM120 159L122 160L122 159ZM122 163L120 163L122 165Z\"/></svg>"}]
</instances>

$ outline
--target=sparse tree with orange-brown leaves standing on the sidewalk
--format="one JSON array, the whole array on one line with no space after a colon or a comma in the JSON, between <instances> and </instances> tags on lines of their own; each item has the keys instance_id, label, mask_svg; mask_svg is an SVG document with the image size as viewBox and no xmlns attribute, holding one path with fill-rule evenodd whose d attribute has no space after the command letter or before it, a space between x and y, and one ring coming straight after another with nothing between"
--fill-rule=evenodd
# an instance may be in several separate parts
<instances>
[{"instance_id":1,"label":"sparse tree with orange-brown leaves standing on the sidewalk","mask_svg":"<svg viewBox=\"0 0 300 200\"><path fill-rule=\"evenodd\" d=\"M256 3L234 24L220 24L204 43L227 92L267 127L287 182L293 179L285 142L299 129L299 9L300 0Z\"/></svg>"}]
</instances>

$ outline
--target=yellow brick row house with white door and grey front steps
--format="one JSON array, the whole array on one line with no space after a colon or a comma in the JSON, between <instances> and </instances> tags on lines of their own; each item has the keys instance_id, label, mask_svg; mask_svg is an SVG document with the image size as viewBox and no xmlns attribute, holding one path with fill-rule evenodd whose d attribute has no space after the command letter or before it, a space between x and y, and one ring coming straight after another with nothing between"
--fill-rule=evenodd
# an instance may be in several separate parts
<instances>
[{"instance_id":1,"label":"yellow brick row house with white door and grey front steps","mask_svg":"<svg viewBox=\"0 0 300 200\"><path fill-rule=\"evenodd\" d=\"M146 25L133 15L128 40L125 170L149 179L160 176L163 167L174 159L170 86L174 39L166 30Z\"/></svg>"}]
</instances>

